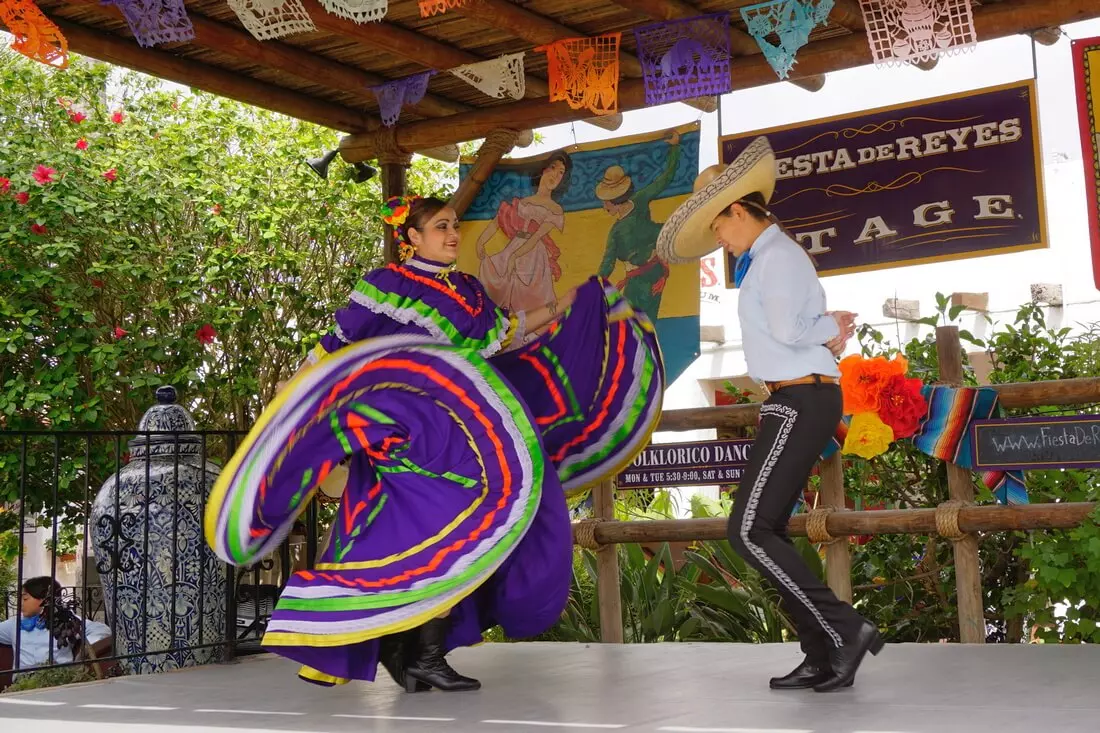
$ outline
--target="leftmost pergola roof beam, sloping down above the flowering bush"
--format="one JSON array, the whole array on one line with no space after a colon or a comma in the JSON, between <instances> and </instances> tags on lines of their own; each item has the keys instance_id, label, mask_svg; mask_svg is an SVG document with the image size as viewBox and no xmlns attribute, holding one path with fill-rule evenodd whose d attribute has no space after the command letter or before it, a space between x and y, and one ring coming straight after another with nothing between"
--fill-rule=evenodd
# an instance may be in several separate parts
<instances>
[{"instance_id":1,"label":"leftmost pergola roof beam, sloping down above the flowering bush","mask_svg":"<svg viewBox=\"0 0 1100 733\"><path fill-rule=\"evenodd\" d=\"M65 34L69 48L85 56L152 74L162 79L202 89L246 105L263 107L333 130L360 132L371 129L373 118L366 112L322 102L296 91L239 76L216 66L180 58L163 51L142 48L125 39L92 31L62 18L53 17L51 20L57 23Z\"/></svg>"}]
</instances>

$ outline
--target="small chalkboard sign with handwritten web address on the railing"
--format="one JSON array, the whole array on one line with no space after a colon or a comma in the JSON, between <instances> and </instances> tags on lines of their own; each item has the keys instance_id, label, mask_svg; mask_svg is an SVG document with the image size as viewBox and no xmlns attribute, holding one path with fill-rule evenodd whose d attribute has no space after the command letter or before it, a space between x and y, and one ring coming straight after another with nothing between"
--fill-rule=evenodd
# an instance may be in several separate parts
<instances>
[{"instance_id":1,"label":"small chalkboard sign with handwritten web address on the railing","mask_svg":"<svg viewBox=\"0 0 1100 733\"><path fill-rule=\"evenodd\" d=\"M975 420L975 468L1100 468L1100 415Z\"/></svg>"}]
</instances>

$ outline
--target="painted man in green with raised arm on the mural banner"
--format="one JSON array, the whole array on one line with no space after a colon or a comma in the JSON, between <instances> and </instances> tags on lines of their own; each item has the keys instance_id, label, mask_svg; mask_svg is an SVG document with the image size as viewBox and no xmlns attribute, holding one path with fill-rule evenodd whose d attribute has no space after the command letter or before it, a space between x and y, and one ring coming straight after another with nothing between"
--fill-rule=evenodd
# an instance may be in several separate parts
<instances>
[{"instance_id":1,"label":"painted man in green with raised arm on the mural banner","mask_svg":"<svg viewBox=\"0 0 1100 733\"><path fill-rule=\"evenodd\" d=\"M618 288L635 308L653 319L659 316L669 266L656 253L661 225L653 221L649 205L675 176L680 164L680 133L673 132L667 142L670 147L664 171L641 190L635 189L634 179L618 165L607 168L596 186L596 198L604 203L604 210L615 217L597 274L610 277L616 263L625 263L626 277L618 283Z\"/></svg>"}]
</instances>

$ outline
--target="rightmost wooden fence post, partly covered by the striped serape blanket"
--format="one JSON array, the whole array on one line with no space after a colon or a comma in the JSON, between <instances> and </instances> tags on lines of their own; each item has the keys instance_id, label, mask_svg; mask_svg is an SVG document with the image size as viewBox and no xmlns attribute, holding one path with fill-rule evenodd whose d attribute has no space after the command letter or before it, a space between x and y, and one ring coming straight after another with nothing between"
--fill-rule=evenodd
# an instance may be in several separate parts
<instances>
[{"instance_id":1,"label":"rightmost wooden fence post, partly covered by the striped serape blanket","mask_svg":"<svg viewBox=\"0 0 1100 733\"><path fill-rule=\"evenodd\" d=\"M950 386L963 384L963 344L959 330L954 326L936 329L936 353L939 357L939 381ZM957 507L974 503L974 479L970 472L947 463L947 491ZM937 522L937 526L941 523ZM959 641L964 644L986 643L986 604L981 592L981 564L978 558L978 538L972 534L956 532L947 535L955 549L955 584L958 590ZM943 534L943 529L941 529Z\"/></svg>"}]
</instances>

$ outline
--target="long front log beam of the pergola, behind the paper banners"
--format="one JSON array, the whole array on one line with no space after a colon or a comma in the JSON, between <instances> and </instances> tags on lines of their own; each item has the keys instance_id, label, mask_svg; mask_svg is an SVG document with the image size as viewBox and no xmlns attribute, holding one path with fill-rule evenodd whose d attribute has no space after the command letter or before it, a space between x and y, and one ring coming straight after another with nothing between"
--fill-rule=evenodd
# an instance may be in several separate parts
<instances>
[{"instance_id":1,"label":"long front log beam of the pergola, behind the paper banners","mask_svg":"<svg viewBox=\"0 0 1100 733\"><path fill-rule=\"evenodd\" d=\"M632 0L631 0L632 1ZM1100 4L1094 0L1022 0L1021 2L982 6L975 11L978 37L983 41L1025 33L1035 28L1062 25L1100 18ZM818 41L799 53L793 73L814 76L827 72L862 66L872 62L866 35L853 34ZM734 59L730 69L733 87L746 89L771 84L776 73L761 54ZM627 79L619 85L619 110L646 107L645 83ZM425 120L399 125L396 144L406 151L435 147L449 143L484 138L496 128L525 129L582 120L587 110L573 110L564 103L531 99L455 114L447 120ZM377 134L350 135L341 143L341 152L350 162L373 157L381 145Z\"/></svg>"}]
</instances>

